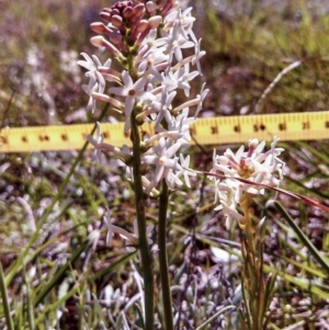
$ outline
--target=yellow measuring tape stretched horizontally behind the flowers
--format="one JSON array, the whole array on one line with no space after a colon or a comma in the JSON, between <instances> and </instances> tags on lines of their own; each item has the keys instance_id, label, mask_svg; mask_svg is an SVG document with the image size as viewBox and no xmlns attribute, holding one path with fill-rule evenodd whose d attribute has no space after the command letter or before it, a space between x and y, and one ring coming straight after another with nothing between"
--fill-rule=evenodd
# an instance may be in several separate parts
<instances>
[{"instance_id":1,"label":"yellow measuring tape stretched horizontally behind the flowers","mask_svg":"<svg viewBox=\"0 0 329 330\"><path fill-rule=\"evenodd\" d=\"M31 152L80 149L93 124L2 128L0 152ZM131 145L123 123L102 124L104 141L114 146ZM154 134L151 125L143 129ZM247 143L250 138L271 140L315 140L329 138L329 112L241 115L198 118L191 134L200 145ZM193 144L193 141L191 141Z\"/></svg>"}]
</instances>

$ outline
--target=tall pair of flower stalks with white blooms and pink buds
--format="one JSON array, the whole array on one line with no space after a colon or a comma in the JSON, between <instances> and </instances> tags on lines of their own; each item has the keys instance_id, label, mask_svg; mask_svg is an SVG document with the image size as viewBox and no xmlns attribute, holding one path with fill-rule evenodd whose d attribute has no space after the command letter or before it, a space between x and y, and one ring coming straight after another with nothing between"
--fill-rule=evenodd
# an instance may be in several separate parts
<instances>
[{"instance_id":1,"label":"tall pair of flower stalks with white blooms and pink buds","mask_svg":"<svg viewBox=\"0 0 329 330\"><path fill-rule=\"evenodd\" d=\"M173 106L173 99L180 94L190 95L190 81L202 75L200 50L192 26L192 8L181 9L178 1L117 1L104 8L101 18L106 22L93 23L91 29L97 35L92 45L103 48L122 67L120 72L112 69L112 59L104 65L95 55L79 65L88 72L89 83L83 90L89 95L88 107L97 109L97 102L110 103L125 121L124 133L131 134L132 147L122 148L106 144L98 125L97 136L88 136L94 146L93 159L102 161L102 152L120 159L126 169L126 178L135 193L138 232L138 249L144 276L144 317L145 329L155 328L155 283L151 243L147 238L147 198L158 198L158 250L159 273L166 329L173 329L170 281L167 258L167 213L169 190L185 184L194 173L189 169L190 157L183 157L180 149L190 136L190 125L196 121L208 90L202 91L193 100L185 100ZM184 49L194 49L195 55L184 55ZM196 70L190 72L190 67ZM106 84L110 88L106 89ZM106 94L109 91L109 94ZM190 109L194 107L192 114ZM141 126L152 124L154 135L143 134ZM120 232L115 225L107 221L109 232ZM129 235L124 237L129 239ZM132 237L131 237L132 238ZM110 239L111 241L111 239ZM136 244L134 244L136 246Z\"/></svg>"}]
</instances>

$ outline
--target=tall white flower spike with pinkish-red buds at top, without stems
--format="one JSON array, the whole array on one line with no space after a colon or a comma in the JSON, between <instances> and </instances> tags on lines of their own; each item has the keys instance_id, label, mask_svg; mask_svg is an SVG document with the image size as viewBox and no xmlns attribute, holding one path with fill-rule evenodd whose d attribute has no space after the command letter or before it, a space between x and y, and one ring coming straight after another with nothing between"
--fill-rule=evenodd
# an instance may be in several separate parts
<instances>
[{"instance_id":1,"label":"tall white flower spike with pinkish-red buds at top, without stems","mask_svg":"<svg viewBox=\"0 0 329 330\"><path fill-rule=\"evenodd\" d=\"M83 87L90 95L89 107L94 109L95 101L114 105L114 110L125 116L125 133L134 122L140 125L143 189L146 194L157 196L161 180L174 189L183 181L190 186L190 177L195 175L189 169L190 156L179 155L179 149L191 139L190 126L196 121L208 90L203 86L201 93L189 100L190 83L201 75L198 60L204 55L200 49L201 41L192 31L195 21L192 8L181 10L178 1L137 2L135 5L134 1L120 1L101 12L106 26L92 24L99 36L92 37L91 43L114 55L122 72L110 68L111 62L106 68L97 57L83 54L86 60L79 64L89 70L90 81ZM188 56L183 52L185 48L190 48ZM197 70L190 70L191 65ZM109 88L104 92L105 83ZM173 107L178 89L184 91L186 100ZM189 115L191 106L195 106L195 116ZM144 123L147 125L141 126ZM97 160L101 160L101 151L114 152L123 160L127 166L126 178L133 181L129 166L135 155L131 150L105 144L99 127L97 135L88 140L95 148ZM254 180L261 179L259 175Z\"/></svg>"}]
</instances>

